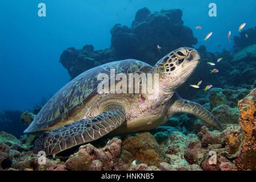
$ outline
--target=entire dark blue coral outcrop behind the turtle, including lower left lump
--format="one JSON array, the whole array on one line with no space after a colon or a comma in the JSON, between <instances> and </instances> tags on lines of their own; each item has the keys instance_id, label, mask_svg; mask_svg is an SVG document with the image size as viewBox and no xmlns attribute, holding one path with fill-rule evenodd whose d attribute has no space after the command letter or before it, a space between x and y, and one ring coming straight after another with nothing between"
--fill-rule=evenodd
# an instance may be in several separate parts
<instances>
[{"instance_id":1,"label":"entire dark blue coral outcrop behind the turtle, including lower left lump","mask_svg":"<svg viewBox=\"0 0 256 182\"><path fill-rule=\"evenodd\" d=\"M115 24L110 30L109 48L94 51L92 45L82 49L70 47L61 54L60 63L68 70L71 79L110 61L138 59L154 65L170 50L197 43L192 30L183 25L181 16L179 9L150 13L143 8L138 10L130 28ZM160 52L156 48L158 44L162 47Z\"/></svg>"}]
</instances>

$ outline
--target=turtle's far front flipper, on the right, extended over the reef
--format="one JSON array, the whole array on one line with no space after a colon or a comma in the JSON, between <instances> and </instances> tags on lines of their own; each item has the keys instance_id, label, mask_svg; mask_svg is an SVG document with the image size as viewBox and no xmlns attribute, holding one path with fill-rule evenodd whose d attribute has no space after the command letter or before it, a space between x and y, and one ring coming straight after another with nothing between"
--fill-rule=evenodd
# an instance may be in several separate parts
<instances>
[{"instance_id":1,"label":"turtle's far front flipper, on the right, extended over the reef","mask_svg":"<svg viewBox=\"0 0 256 182\"><path fill-rule=\"evenodd\" d=\"M195 115L197 118L208 123L210 126L222 131L223 127L216 117L210 111L196 102L184 100L176 93L176 100L174 100L168 113L188 113Z\"/></svg>"}]
</instances>

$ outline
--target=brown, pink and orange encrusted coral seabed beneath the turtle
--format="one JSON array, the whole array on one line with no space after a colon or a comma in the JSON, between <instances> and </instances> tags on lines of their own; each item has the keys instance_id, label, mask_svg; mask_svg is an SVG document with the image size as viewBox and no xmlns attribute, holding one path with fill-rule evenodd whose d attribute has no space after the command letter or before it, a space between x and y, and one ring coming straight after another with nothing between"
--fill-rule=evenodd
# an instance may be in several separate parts
<instances>
[{"instance_id":1,"label":"brown, pink and orange encrusted coral seabed beneath the turtle","mask_svg":"<svg viewBox=\"0 0 256 182\"><path fill-rule=\"evenodd\" d=\"M221 94L215 96L225 97L232 109L236 109L233 103L243 96L234 90L216 90ZM40 155L33 154L31 148L26 146L25 143L31 143L33 138L23 136L20 141L13 135L1 132L0 164L5 164L0 170L255 170L255 91L256 88L238 102L239 123L225 123L222 132L203 126L197 135L185 135L180 130L179 120L187 122L187 119L181 115L178 119L171 119L174 123L156 129L152 132L154 135L140 133L121 139L114 137L104 147L99 142L97 147L88 143L67 157L61 156L61 153L55 159L47 157L46 164L39 164ZM217 97L214 100L217 101ZM222 103L214 105L214 108L223 106ZM215 155L216 163L210 163L211 154ZM139 162L134 164L134 160Z\"/></svg>"}]
</instances>

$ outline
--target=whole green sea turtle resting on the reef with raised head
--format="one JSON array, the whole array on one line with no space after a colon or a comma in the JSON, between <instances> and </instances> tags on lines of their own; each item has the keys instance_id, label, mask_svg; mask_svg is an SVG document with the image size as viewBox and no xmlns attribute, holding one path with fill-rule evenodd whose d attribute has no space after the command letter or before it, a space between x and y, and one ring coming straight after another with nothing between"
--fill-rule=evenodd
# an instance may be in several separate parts
<instances>
[{"instance_id":1,"label":"whole green sea turtle resting on the reef with raised head","mask_svg":"<svg viewBox=\"0 0 256 182\"><path fill-rule=\"evenodd\" d=\"M222 130L212 113L196 102L184 100L175 91L191 76L199 63L200 55L195 49L181 47L168 53L154 67L142 61L127 59L89 69L61 88L43 106L24 133L42 134L34 143L35 154L43 150L46 155L55 156L63 150L101 137L155 129L175 113L193 114ZM97 78L102 73L112 76L99 84ZM120 74L122 76L150 73L151 78L158 78L151 79L158 92L142 92L141 77L137 80L138 84L136 79L134 83L129 83L131 92L125 93L128 88L124 89L125 84L120 84L122 76L117 73L123 73ZM125 78L122 77L122 81L123 79ZM106 83L110 88L109 92L99 92ZM137 92L136 84L139 85ZM152 96L156 95L153 99Z\"/></svg>"}]
</instances>

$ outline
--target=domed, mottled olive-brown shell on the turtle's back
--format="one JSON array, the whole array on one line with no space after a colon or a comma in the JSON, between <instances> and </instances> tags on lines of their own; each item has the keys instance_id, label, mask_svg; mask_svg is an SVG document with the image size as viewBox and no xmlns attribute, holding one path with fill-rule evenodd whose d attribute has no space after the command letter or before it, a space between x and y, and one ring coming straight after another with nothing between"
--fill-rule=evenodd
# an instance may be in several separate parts
<instances>
[{"instance_id":1,"label":"domed, mottled olive-brown shell on the turtle's back","mask_svg":"<svg viewBox=\"0 0 256 182\"><path fill-rule=\"evenodd\" d=\"M92 92L97 89L97 85L100 82L97 80L98 75L100 73L110 75L110 69L115 69L115 74L127 74L138 71L146 73L152 67L142 61L127 59L102 64L81 73L52 96L36 115L30 126L24 130L24 133L44 131L46 128L61 122L61 118L70 113L70 110L76 110L77 106L82 102L86 104L86 99L92 97Z\"/></svg>"}]
</instances>

